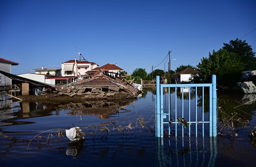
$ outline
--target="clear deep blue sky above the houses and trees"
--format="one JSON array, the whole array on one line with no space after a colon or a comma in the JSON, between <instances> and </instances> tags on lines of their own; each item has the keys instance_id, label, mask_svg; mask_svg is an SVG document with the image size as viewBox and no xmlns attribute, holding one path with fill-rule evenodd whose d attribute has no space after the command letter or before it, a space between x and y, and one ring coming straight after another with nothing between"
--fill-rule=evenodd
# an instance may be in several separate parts
<instances>
[{"instance_id":1,"label":"clear deep blue sky above the houses and trees","mask_svg":"<svg viewBox=\"0 0 256 167\"><path fill-rule=\"evenodd\" d=\"M196 66L255 28L256 0L0 0L0 57L20 63L13 74L61 67L79 52L149 73L169 50L172 70ZM256 30L241 40L256 51Z\"/></svg>"}]
</instances>

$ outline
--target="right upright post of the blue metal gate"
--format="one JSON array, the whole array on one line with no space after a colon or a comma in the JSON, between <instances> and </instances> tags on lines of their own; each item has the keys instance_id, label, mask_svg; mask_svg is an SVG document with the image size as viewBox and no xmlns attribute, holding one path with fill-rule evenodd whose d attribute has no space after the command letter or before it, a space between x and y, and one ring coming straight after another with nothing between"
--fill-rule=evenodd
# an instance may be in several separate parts
<instances>
[{"instance_id":1,"label":"right upright post of the blue metal gate","mask_svg":"<svg viewBox=\"0 0 256 167\"><path fill-rule=\"evenodd\" d=\"M217 89L216 89L216 75L212 75L212 119L213 119L213 127L212 127L212 136L217 136Z\"/></svg>"}]
</instances>

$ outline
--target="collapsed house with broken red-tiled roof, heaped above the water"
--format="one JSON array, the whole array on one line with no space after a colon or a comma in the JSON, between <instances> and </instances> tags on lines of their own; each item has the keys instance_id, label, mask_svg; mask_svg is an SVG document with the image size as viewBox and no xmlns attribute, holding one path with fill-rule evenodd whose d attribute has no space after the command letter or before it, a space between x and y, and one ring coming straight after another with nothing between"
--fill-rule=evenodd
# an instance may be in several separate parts
<instances>
[{"instance_id":1,"label":"collapsed house with broken red-tiled roof, heaped above the water","mask_svg":"<svg viewBox=\"0 0 256 167\"><path fill-rule=\"evenodd\" d=\"M136 98L142 91L135 88L125 79L112 78L98 71L90 78L87 78L69 85L56 86L60 95L85 95L85 98L104 98L118 94L126 98Z\"/></svg>"}]
</instances>

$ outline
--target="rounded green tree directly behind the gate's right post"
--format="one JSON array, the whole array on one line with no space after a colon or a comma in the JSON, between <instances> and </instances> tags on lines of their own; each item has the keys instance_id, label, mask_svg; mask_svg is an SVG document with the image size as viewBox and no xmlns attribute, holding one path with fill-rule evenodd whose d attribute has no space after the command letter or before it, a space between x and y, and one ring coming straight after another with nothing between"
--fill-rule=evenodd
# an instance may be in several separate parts
<instances>
[{"instance_id":1,"label":"rounded green tree directly behind the gate's right post","mask_svg":"<svg viewBox=\"0 0 256 167\"><path fill-rule=\"evenodd\" d=\"M244 70L243 63L236 59L237 54L220 49L209 57L203 57L197 65L203 82L211 82L211 75L217 76L217 83L224 85L235 85Z\"/></svg>"}]
</instances>

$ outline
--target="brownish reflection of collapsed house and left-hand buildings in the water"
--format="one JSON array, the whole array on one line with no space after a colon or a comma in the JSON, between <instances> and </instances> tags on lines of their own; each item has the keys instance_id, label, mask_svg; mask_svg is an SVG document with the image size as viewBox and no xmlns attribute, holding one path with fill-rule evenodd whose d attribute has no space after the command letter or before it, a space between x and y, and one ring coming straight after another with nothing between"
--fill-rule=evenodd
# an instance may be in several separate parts
<instances>
[{"instance_id":1,"label":"brownish reflection of collapsed house and left-hand buildings in the water","mask_svg":"<svg viewBox=\"0 0 256 167\"><path fill-rule=\"evenodd\" d=\"M0 120L1 126L32 124L35 122L20 121L20 119L45 117L50 115L59 115L60 111L69 111L66 115L96 115L100 119L108 119L113 114L129 112L125 110L126 106L136 101L136 99L126 99L118 102L106 101L86 101L81 103L68 103L65 105L20 102L15 108L12 106L1 108ZM121 110L121 111L120 111Z\"/></svg>"}]
</instances>

